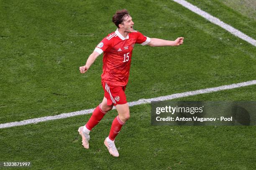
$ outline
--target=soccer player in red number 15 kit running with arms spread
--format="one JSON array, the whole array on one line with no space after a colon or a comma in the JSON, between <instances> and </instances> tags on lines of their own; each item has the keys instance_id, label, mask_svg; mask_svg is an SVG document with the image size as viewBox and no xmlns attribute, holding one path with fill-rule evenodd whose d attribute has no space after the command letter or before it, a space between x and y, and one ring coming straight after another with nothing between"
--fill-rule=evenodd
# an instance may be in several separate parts
<instances>
[{"instance_id":1,"label":"soccer player in red number 15 kit running with arms spread","mask_svg":"<svg viewBox=\"0 0 256 170\"><path fill-rule=\"evenodd\" d=\"M136 30L133 30L133 20L127 10L118 10L112 18L117 30L110 33L95 47L84 66L79 67L81 73L88 71L96 58L103 53L103 67L101 82L104 89L102 102L95 108L92 116L78 129L82 136L82 145L89 148L90 131L97 125L104 115L115 106L118 116L113 120L110 133L104 144L111 155L118 157L115 147L115 137L122 126L130 118L130 111L125 96L125 87L131 66L131 57L135 44L157 46L179 46L183 43L183 37L175 41L149 38Z\"/></svg>"}]
</instances>

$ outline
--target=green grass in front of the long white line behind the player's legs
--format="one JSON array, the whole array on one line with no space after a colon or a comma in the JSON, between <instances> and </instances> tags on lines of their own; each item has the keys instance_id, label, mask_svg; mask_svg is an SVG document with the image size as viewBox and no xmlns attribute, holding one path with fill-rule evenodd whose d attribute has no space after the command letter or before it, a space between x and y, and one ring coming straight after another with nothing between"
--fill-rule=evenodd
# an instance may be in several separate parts
<instances>
[{"instance_id":1,"label":"green grass in front of the long white line behind the player's legs","mask_svg":"<svg viewBox=\"0 0 256 170\"><path fill-rule=\"evenodd\" d=\"M178 100L256 100L248 90ZM90 133L89 150L82 147L77 128L90 115L2 129L1 160L31 161L31 169L253 170L255 126L151 126L150 111L150 105L131 107L131 119L115 140L119 158L110 156L103 144L117 114L113 110Z\"/></svg>"}]
</instances>

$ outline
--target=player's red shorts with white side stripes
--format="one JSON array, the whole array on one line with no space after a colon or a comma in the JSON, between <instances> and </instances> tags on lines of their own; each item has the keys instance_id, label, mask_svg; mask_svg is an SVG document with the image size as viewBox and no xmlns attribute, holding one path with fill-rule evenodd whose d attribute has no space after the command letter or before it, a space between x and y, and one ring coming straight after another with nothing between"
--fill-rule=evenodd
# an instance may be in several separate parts
<instances>
[{"instance_id":1,"label":"player's red shorts with white side stripes","mask_svg":"<svg viewBox=\"0 0 256 170\"><path fill-rule=\"evenodd\" d=\"M104 96L107 98L107 105L122 105L127 103L125 96L126 86L112 86L106 82L101 82L104 89Z\"/></svg>"}]
</instances>

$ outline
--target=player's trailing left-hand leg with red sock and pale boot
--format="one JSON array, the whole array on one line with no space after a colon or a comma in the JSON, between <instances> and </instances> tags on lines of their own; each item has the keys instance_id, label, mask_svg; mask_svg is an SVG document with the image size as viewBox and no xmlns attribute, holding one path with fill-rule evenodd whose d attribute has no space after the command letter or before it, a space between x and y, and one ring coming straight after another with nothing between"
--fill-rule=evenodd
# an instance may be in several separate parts
<instances>
[{"instance_id":1,"label":"player's trailing left-hand leg with red sock and pale boot","mask_svg":"<svg viewBox=\"0 0 256 170\"><path fill-rule=\"evenodd\" d=\"M105 114L113 108L113 105L107 105L107 98L104 97L100 105L98 105L95 110L92 112L92 116L86 123L86 125L81 126L78 129L79 134L82 136L82 145L84 148L89 148L89 139L90 139L90 131L94 128L100 120L105 116Z\"/></svg>"}]
</instances>

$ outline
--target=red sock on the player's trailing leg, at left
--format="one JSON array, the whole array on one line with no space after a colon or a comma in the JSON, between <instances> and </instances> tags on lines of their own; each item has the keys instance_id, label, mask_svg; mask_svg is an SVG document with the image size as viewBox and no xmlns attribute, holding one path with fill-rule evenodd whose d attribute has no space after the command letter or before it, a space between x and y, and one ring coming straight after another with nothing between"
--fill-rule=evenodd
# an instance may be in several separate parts
<instances>
[{"instance_id":1,"label":"red sock on the player's trailing leg, at left","mask_svg":"<svg viewBox=\"0 0 256 170\"><path fill-rule=\"evenodd\" d=\"M92 116L85 125L88 130L92 130L92 128L95 127L106 114L106 112L102 112L100 105L95 108L95 110L92 112Z\"/></svg>"}]
</instances>

